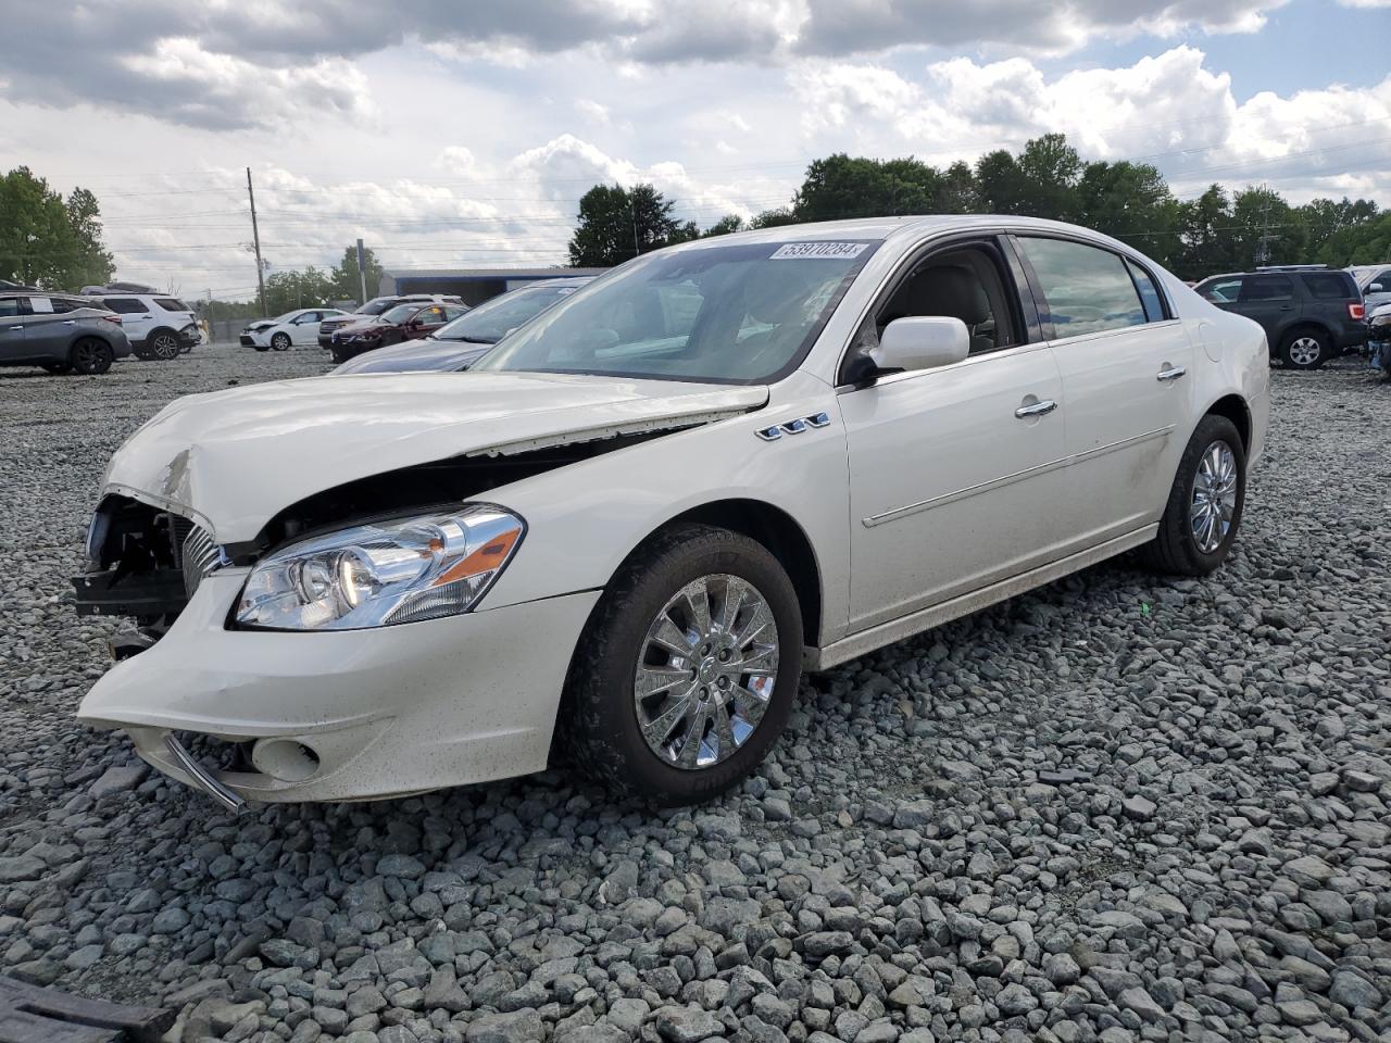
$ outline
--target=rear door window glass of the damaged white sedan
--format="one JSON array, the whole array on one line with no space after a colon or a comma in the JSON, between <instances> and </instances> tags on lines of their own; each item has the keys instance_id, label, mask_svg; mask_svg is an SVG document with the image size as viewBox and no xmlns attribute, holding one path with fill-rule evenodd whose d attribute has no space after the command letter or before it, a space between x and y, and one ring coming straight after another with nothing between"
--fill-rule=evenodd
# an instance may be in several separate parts
<instances>
[{"instance_id":1,"label":"rear door window glass of the damaged white sedan","mask_svg":"<svg viewBox=\"0 0 1391 1043\"><path fill-rule=\"evenodd\" d=\"M1043 289L1054 337L1085 337L1143 325L1145 306L1120 254L1067 239L1021 236Z\"/></svg>"}]
</instances>

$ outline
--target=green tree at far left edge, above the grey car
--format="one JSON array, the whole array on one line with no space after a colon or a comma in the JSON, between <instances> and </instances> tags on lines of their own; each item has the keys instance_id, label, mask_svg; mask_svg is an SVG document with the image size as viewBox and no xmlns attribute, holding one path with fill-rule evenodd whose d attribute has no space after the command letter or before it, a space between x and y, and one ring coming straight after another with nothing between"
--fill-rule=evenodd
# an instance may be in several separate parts
<instances>
[{"instance_id":1,"label":"green tree at far left edge, above the grey car","mask_svg":"<svg viewBox=\"0 0 1391 1043\"><path fill-rule=\"evenodd\" d=\"M111 278L96 196L67 200L28 167L0 178L0 278L45 289L81 289Z\"/></svg>"}]
</instances>

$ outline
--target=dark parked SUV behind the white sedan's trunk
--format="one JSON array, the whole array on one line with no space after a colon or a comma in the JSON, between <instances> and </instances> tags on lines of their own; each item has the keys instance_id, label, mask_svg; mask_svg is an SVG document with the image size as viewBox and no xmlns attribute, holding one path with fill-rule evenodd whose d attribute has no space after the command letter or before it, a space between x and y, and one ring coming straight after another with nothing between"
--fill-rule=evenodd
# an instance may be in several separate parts
<instances>
[{"instance_id":1,"label":"dark parked SUV behind the white sedan's trunk","mask_svg":"<svg viewBox=\"0 0 1391 1043\"><path fill-rule=\"evenodd\" d=\"M1213 275L1193 286L1225 312L1266 328L1270 357L1316 370L1367 341L1366 307L1352 275L1312 264Z\"/></svg>"}]
</instances>

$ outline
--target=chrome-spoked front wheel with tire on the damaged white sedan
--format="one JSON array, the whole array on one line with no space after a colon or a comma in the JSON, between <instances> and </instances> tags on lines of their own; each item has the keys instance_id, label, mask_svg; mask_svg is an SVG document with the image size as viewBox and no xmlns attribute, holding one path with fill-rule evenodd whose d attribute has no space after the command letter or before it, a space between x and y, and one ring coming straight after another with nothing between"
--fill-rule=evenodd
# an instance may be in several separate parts
<instances>
[{"instance_id":1,"label":"chrome-spoked front wheel with tire on the damaged white sedan","mask_svg":"<svg viewBox=\"0 0 1391 1043\"><path fill-rule=\"evenodd\" d=\"M616 791L666 807L709 800L782 733L801 641L797 594L762 544L672 527L633 553L594 608L561 744Z\"/></svg>"}]
</instances>

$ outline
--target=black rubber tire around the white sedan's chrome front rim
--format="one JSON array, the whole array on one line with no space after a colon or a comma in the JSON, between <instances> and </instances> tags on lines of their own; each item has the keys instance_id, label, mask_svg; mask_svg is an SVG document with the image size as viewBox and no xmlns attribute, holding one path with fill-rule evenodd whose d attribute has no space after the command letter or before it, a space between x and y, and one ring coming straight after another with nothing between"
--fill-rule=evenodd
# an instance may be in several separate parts
<instances>
[{"instance_id":1,"label":"black rubber tire around the white sedan's chrome front rim","mask_svg":"<svg viewBox=\"0 0 1391 1043\"><path fill-rule=\"evenodd\" d=\"M709 766L680 768L643 737L634 676L638 656L647 654L648 627L668 602L687 584L718 576L747 581L771 611L778 627L773 691L732 754ZM673 526L629 556L590 613L566 680L558 745L574 766L616 793L661 807L709 800L748 776L782 734L801 679L801 641L796 590L762 544L712 526ZM691 673L696 684L694 666Z\"/></svg>"}]
</instances>

